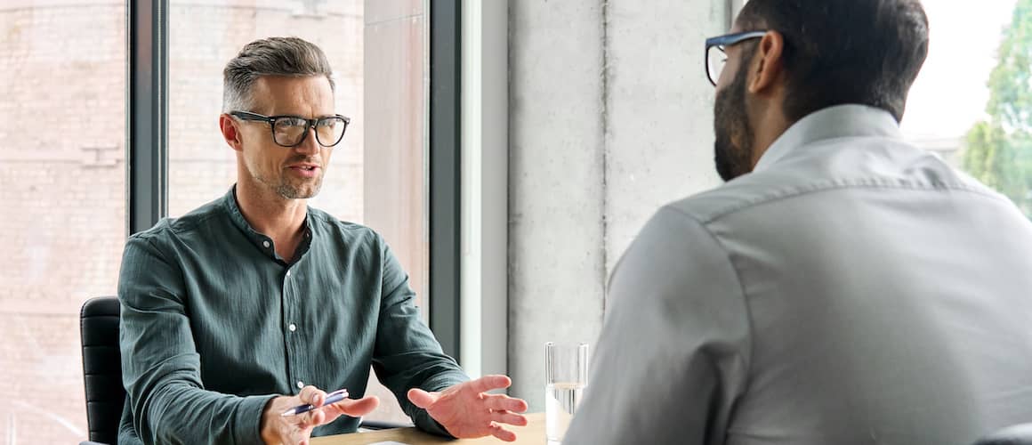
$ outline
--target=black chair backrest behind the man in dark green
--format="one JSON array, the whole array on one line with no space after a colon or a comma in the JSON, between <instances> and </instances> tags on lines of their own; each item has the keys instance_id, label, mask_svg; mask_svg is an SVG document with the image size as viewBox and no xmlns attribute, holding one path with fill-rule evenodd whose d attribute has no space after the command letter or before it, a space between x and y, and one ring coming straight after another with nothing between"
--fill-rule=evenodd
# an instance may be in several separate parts
<instances>
[{"instance_id":1,"label":"black chair backrest behind the man in dark green","mask_svg":"<svg viewBox=\"0 0 1032 445\"><path fill-rule=\"evenodd\" d=\"M120 310L118 298L100 296L86 301L79 313L86 419L94 442L118 442L126 400L119 350Z\"/></svg>"}]
</instances>

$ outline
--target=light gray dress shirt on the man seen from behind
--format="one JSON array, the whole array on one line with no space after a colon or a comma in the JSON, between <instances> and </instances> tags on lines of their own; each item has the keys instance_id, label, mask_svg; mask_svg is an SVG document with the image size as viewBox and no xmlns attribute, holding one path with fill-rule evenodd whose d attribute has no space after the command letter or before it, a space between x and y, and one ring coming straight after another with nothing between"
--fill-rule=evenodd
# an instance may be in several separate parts
<instances>
[{"instance_id":1,"label":"light gray dress shirt on the man seen from behind","mask_svg":"<svg viewBox=\"0 0 1032 445\"><path fill-rule=\"evenodd\" d=\"M969 445L1032 421L1032 224L877 108L814 113L660 209L609 292L568 445Z\"/></svg>"}]
</instances>

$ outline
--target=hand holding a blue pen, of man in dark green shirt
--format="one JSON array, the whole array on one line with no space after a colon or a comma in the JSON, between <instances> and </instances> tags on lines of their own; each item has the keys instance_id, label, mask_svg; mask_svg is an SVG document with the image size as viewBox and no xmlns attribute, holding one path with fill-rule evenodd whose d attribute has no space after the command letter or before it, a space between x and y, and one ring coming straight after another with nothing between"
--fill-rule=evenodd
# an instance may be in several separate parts
<instances>
[{"instance_id":1,"label":"hand holding a blue pen, of man in dark green shirt","mask_svg":"<svg viewBox=\"0 0 1032 445\"><path fill-rule=\"evenodd\" d=\"M261 416L261 438L266 445L308 445L312 428L336 420L342 415L361 417L380 405L375 395L358 400L345 399L335 404L323 406L326 392L305 386L297 395L281 395L265 405ZM298 405L312 404L319 407L303 414L281 416L284 411Z\"/></svg>"}]
</instances>

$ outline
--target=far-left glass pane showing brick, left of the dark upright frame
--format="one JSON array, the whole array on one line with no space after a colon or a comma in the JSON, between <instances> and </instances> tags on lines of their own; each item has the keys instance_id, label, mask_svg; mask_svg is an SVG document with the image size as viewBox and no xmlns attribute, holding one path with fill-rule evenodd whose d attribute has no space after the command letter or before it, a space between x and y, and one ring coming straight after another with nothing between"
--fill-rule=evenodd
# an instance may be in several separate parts
<instances>
[{"instance_id":1,"label":"far-left glass pane showing brick, left of the dark upright frame","mask_svg":"<svg viewBox=\"0 0 1032 445\"><path fill-rule=\"evenodd\" d=\"M0 6L0 441L87 439L78 311L126 234L124 0Z\"/></svg>"}]
</instances>

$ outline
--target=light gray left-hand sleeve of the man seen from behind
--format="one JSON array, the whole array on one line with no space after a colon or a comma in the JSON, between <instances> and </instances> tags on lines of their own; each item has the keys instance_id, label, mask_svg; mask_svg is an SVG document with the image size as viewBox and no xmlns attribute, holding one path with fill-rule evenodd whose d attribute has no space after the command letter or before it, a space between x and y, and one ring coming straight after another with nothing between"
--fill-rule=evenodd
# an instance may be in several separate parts
<instances>
[{"instance_id":1,"label":"light gray left-hand sleeve of the man seen from behind","mask_svg":"<svg viewBox=\"0 0 1032 445\"><path fill-rule=\"evenodd\" d=\"M567 445L723 444L745 388L749 319L727 251L662 209L613 273Z\"/></svg>"}]
</instances>

